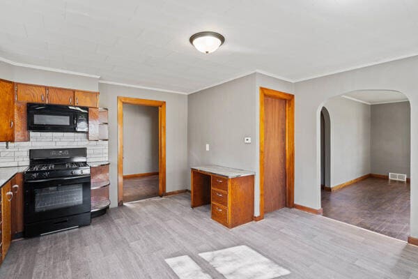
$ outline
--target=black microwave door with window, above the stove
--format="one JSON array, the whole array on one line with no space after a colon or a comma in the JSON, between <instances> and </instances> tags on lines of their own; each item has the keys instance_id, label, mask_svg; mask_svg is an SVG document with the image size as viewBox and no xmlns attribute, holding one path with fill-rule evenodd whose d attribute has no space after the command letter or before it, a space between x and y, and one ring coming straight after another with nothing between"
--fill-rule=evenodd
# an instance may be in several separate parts
<instances>
[{"instance_id":1,"label":"black microwave door with window, above the stove","mask_svg":"<svg viewBox=\"0 0 418 279\"><path fill-rule=\"evenodd\" d=\"M75 112L66 106L28 104L28 130L75 132Z\"/></svg>"}]
</instances>

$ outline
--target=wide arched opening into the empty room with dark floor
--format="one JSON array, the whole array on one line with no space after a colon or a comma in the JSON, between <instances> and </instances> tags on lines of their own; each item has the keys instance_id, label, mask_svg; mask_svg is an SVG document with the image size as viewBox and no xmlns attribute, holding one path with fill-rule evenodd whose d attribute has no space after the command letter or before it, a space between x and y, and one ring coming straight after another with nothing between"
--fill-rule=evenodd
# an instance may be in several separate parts
<instances>
[{"instance_id":1,"label":"wide arched opening into the empty room with dark floor","mask_svg":"<svg viewBox=\"0 0 418 279\"><path fill-rule=\"evenodd\" d=\"M408 240L410 103L403 93L364 90L327 100L320 157L323 216Z\"/></svg>"}]
</instances>

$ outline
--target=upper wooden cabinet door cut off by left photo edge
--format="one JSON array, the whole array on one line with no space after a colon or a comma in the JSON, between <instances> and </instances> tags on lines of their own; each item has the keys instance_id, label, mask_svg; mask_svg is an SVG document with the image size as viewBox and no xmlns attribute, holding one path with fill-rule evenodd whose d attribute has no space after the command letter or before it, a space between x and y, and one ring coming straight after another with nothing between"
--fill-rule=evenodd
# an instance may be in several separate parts
<instances>
[{"instance_id":1,"label":"upper wooden cabinet door cut off by left photo edge","mask_svg":"<svg viewBox=\"0 0 418 279\"><path fill-rule=\"evenodd\" d=\"M15 92L13 82L0 80L0 142L13 142Z\"/></svg>"}]
</instances>

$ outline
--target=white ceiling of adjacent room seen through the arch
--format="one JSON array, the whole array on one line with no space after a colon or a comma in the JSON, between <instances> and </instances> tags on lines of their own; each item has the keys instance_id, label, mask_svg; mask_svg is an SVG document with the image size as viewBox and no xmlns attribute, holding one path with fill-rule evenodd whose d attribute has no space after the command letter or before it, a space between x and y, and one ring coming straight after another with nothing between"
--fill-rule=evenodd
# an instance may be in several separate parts
<instances>
[{"instance_id":1,"label":"white ceiling of adjacent room seen through the arch","mask_svg":"<svg viewBox=\"0 0 418 279\"><path fill-rule=\"evenodd\" d=\"M408 98L403 93L392 90L359 90L346 93L343 97L368 105L408 101Z\"/></svg>"}]
</instances>

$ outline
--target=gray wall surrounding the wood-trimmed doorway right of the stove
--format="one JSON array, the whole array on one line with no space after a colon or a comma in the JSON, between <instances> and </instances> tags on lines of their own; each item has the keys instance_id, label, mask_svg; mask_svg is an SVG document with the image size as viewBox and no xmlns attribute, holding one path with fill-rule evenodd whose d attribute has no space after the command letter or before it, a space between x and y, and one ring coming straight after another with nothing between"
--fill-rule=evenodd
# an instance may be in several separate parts
<instances>
[{"instance_id":1,"label":"gray wall surrounding the wood-trimmed doorway right of the stove","mask_svg":"<svg viewBox=\"0 0 418 279\"><path fill-rule=\"evenodd\" d=\"M137 89L111 84L99 84L100 106L109 108L109 162L111 206L118 204L118 96L164 100L167 110L167 192L187 188L190 176L187 167L187 96Z\"/></svg>"}]
</instances>

